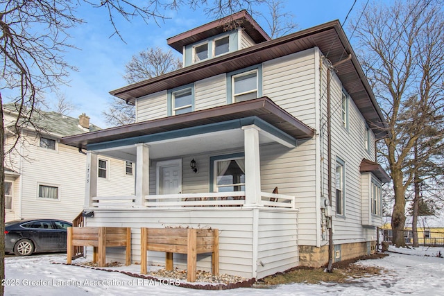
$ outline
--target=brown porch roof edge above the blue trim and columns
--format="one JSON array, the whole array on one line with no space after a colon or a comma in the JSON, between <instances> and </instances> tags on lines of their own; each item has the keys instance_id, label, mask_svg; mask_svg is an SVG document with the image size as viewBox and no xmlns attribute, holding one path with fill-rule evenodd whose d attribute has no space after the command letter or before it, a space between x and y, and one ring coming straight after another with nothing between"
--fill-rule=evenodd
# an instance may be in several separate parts
<instances>
[{"instance_id":1,"label":"brown porch roof edge above the blue trim and columns","mask_svg":"<svg viewBox=\"0 0 444 296\"><path fill-rule=\"evenodd\" d=\"M148 136L162 132L173 132L253 116L265 121L294 139L307 139L313 137L315 134L313 128L296 119L287 111L273 103L271 99L262 97L206 110L64 137L60 139L60 143L85 149L87 145L97 143Z\"/></svg>"}]
</instances>

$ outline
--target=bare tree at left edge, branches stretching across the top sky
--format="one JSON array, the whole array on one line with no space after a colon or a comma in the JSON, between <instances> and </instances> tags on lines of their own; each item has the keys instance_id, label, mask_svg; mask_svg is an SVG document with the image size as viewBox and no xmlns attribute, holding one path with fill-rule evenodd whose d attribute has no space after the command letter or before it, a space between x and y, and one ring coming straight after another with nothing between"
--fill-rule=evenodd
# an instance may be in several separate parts
<instances>
[{"instance_id":1,"label":"bare tree at left edge, branches stretching across the top sky","mask_svg":"<svg viewBox=\"0 0 444 296\"><path fill-rule=\"evenodd\" d=\"M161 21L165 19L163 11L170 6L180 8L205 6L213 13L224 14L239 10L242 6L251 6L263 0L175 0L165 5L159 0L9 0L0 3L0 92L8 91L8 101L17 104L17 121L10 127L20 138L22 127L34 125L33 113L44 97L44 92L53 92L58 85L64 84L68 71L75 69L65 61L63 52L72 47L69 44L69 30L83 24L76 17L78 5L87 4L109 15L114 34L121 37L116 25L116 18L123 17L130 21L133 17ZM210 11L209 10L209 11ZM3 92L4 93L4 92ZM3 101L0 97L0 104ZM3 110L1 110L3 111ZM0 129L3 132L3 113ZM36 130L38 127L35 126ZM1 136L1 134L0 134ZM0 137L0 281L4 279L4 138ZM4 288L0 285L0 295Z\"/></svg>"}]
</instances>

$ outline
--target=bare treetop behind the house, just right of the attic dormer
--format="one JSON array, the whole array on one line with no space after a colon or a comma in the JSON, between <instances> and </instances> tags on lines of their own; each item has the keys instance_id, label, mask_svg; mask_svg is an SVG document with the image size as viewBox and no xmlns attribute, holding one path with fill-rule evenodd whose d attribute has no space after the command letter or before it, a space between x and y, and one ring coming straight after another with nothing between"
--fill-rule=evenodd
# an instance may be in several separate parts
<instances>
[{"instance_id":1,"label":"bare treetop behind the house, just right of the attic dormer","mask_svg":"<svg viewBox=\"0 0 444 296\"><path fill-rule=\"evenodd\" d=\"M293 21L294 15L284 12L286 11L284 1L267 1L266 6L268 8L267 13L257 13L266 21L271 39L293 33L298 29L298 24Z\"/></svg>"}]
</instances>

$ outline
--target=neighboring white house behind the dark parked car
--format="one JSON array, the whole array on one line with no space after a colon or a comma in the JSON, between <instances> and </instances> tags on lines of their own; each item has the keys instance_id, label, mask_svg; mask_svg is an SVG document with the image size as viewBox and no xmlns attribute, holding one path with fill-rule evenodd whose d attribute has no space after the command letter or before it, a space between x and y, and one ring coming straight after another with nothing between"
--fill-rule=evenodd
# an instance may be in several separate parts
<instances>
[{"instance_id":1,"label":"neighboring white house behind the dark parked car","mask_svg":"<svg viewBox=\"0 0 444 296\"><path fill-rule=\"evenodd\" d=\"M3 105L6 149L17 139L13 128L17 111L13 103ZM15 149L6 155L6 221L22 218L57 218L71 221L83 210L86 155L59 143L64 136L100 130L79 119L56 112L38 111L35 125L22 129ZM133 164L111 157L99 157L99 191L134 194Z\"/></svg>"}]
</instances>

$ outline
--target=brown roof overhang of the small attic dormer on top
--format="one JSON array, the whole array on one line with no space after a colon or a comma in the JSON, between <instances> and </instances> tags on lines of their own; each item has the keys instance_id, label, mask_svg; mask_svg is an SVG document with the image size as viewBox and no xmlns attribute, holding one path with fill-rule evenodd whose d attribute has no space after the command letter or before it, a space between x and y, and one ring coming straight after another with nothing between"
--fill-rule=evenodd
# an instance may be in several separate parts
<instances>
[{"instance_id":1,"label":"brown roof overhang of the small attic dormer on top","mask_svg":"<svg viewBox=\"0 0 444 296\"><path fill-rule=\"evenodd\" d=\"M259 26L259 24L257 24L253 17L251 17L246 10L241 10L229 15L228 17L211 21L203 26L198 26L197 28L193 28L187 32L170 37L167 39L167 44L173 47L173 49L176 49L176 51L182 53L183 46L223 33L225 31L225 24L230 24L237 21L239 21L239 24L235 25L244 28L248 35L256 43L271 40L268 34L262 29L261 26Z\"/></svg>"}]
</instances>

